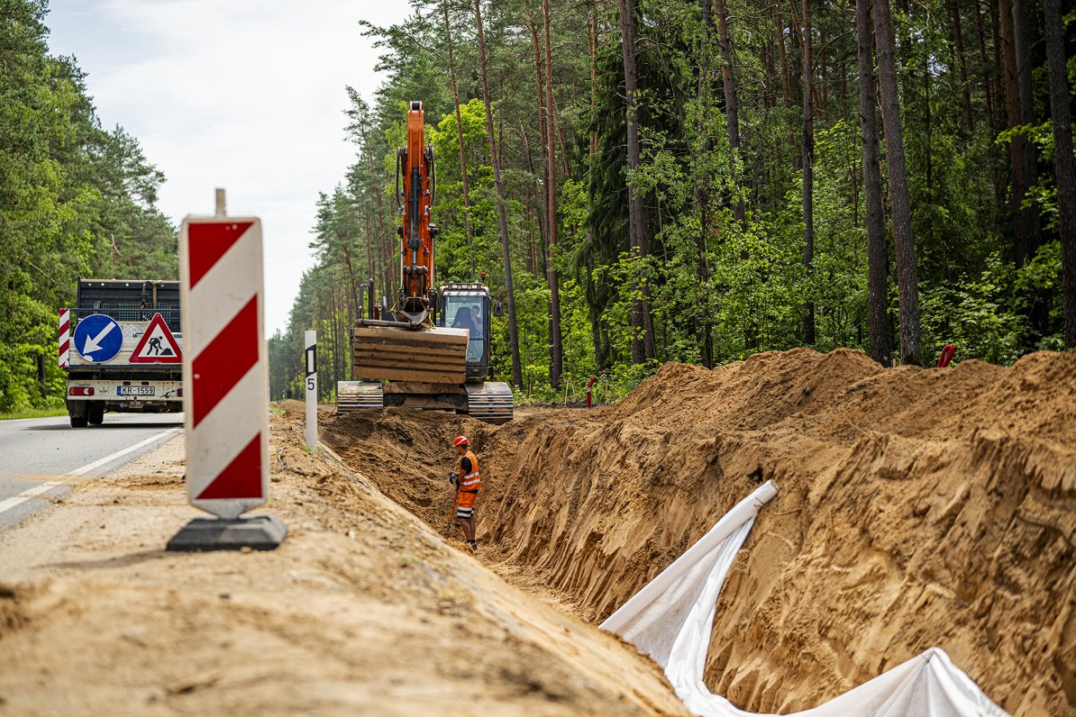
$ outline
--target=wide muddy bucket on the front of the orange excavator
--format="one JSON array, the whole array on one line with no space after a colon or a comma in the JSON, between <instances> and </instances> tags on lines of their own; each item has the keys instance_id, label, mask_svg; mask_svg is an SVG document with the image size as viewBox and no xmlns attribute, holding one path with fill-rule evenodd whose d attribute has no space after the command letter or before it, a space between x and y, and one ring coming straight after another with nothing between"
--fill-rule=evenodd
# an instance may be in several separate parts
<instances>
[{"instance_id":1,"label":"wide muddy bucket on the front of the orange excavator","mask_svg":"<svg viewBox=\"0 0 1076 717\"><path fill-rule=\"evenodd\" d=\"M352 339L352 373L368 381L463 384L467 329L360 326Z\"/></svg>"}]
</instances>

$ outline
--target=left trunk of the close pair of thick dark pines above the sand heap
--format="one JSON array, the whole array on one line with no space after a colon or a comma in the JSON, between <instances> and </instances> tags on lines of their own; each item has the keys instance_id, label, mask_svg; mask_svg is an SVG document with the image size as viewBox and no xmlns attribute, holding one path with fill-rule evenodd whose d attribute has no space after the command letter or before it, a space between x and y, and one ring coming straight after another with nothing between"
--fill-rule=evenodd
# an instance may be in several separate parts
<instances>
[{"instance_id":1,"label":"left trunk of the close pair of thick dark pines above the sand heap","mask_svg":"<svg viewBox=\"0 0 1076 717\"><path fill-rule=\"evenodd\" d=\"M881 202L881 156L878 146L878 110L875 99L874 35L870 33L870 0L855 2L855 34L859 44L860 130L863 138L863 202L867 229L867 320L870 358L889 365L893 354L893 329L889 320L889 253Z\"/></svg>"}]
</instances>

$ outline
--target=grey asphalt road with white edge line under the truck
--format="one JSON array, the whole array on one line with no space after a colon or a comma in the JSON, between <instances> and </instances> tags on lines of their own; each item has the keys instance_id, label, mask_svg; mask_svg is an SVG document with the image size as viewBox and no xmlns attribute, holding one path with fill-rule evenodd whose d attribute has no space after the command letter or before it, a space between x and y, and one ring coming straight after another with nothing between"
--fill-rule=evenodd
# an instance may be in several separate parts
<instances>
[{"instance_id":1,"label":"grey asphalt road with white edge line under the truck","mask_svg":"<svg viewBox=\"0 0 1076 717\"><path fill-rule=\"evenodd\" d=\"M0 420L0 530L182 430L182 413L107 413L89 428L71 428L67 416Z\"/></svg>"}]
</instances>

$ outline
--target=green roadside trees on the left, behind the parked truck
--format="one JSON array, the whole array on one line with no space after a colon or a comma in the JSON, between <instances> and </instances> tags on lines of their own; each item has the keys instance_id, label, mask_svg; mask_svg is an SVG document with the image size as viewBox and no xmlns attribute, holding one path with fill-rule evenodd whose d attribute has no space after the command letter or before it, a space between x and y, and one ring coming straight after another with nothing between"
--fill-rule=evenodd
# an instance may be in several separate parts
<instances>
[{"instance_id":1,"label":"green roadside trees on the left, behind the parked truck","mask_svg":"<svg viewBox=\"0 0 1076 717\"><path fill-rule=\"evenodd\" d=\"M101 128L85 75L47 55L45 3L0 13L0 411L61 406L56 318L79 276L175 278L164 175Z\"/></svg>"}]
</instances>

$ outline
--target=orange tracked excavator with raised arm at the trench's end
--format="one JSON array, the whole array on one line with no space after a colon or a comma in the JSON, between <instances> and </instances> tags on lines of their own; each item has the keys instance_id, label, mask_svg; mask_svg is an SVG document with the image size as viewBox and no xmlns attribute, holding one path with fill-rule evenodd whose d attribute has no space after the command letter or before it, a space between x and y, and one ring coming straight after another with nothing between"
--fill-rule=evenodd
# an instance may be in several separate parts
<instances>
[{"instance_id":1,"label":"orange tracked excavator with raised arm at the trench's end","mask_svg":"<svg viewBox=\"0 0 1076 717\"><path fill-rule=\"evenodd\" d=\"M352 374L362 378L337 384L338 411L413 406L506 422L512 418L512 390L485 381L491 316L499 316L485 274L478 283L434 288L437 226L429 219L437 173L434 147L425 144L424 134L422 102L411 102L407 146L396 153L396 196L404 219L397 230L400 292L395 305L387 297L380 306L370 301L370 316L356 321Z\"/></svg>"}]
</instances>

